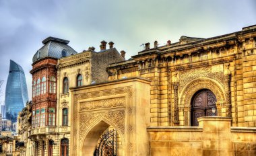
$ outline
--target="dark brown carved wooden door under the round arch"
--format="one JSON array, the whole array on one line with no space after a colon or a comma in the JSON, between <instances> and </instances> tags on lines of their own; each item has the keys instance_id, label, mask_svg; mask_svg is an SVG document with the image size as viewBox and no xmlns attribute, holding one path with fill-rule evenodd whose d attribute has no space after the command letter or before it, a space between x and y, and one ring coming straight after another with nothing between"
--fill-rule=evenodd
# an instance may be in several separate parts
<instances>
[{"instance_id":1,"label":"dark brown carved wooden door under the round arch","mask_svg":"<svg viewBox=\"0 0 256 156\"><path fill-rule=\"evenodd\" d=\"M201 116L214 116L212 108L216 108L216 97L212 91L203 89L193 96L191 106L191 126L198 126L197 118Z\"/></svg>"}]
</instances>

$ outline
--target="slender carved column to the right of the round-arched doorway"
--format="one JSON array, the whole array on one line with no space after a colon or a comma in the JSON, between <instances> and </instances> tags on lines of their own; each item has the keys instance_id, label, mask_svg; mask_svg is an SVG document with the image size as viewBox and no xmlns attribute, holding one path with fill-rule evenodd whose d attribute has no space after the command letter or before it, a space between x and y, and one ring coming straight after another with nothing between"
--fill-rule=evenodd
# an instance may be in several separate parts
<instances>
[{"instance_id":1,"label":"slender carved column to the right of the round-arched doorway","mask_svg":"<svg viewBox=\"0 0 256 156\"><path fill-rule=\"evenodd\" d=\"M225 108L226 108L226 117L231 117L231 100L230 100L230 76L231 71L229 70L229 63L226 66L226 69L224 70L224 89L225 89Z\"/></svg>"}]
</instances>

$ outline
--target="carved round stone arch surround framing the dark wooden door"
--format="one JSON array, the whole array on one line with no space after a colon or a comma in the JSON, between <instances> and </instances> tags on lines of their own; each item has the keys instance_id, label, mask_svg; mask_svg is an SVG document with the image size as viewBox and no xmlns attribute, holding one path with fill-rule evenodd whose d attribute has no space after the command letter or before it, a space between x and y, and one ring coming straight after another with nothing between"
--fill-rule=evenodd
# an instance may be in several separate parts
<instances>
[{"instance_id":1,"label":"carved round stone arch surround framing the dark wooden door","mask_svg":"<svg viewBox=\"0 0 256 156\"><path fill-rule=\"evenodd\" d=\"M194 79L191 83L185 85L183 91L181 91L181 96L179 98L179 111L183 112L184 115L184 126L190 126L191 120L191 100L193 95L201 89L209 89L216 96L216 106L218 108L218 116L221 116L221 108L224 107L226 102L225 90L220 83L214 79L209 79L207 77L200 77Z\"/></svg>"}]
</instances>

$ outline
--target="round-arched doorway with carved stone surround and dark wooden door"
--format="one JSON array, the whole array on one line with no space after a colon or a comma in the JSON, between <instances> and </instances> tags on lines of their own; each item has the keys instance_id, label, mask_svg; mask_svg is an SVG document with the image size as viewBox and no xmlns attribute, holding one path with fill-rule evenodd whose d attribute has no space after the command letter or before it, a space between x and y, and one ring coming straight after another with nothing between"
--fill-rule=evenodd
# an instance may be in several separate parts
<instances>
[{"instance_id":1,"label":"round-arched doorway with carved stone surround and dark wooden door","mask_svg":"<svg viewBox=\"0 0 256 156\"><path fill-rule=\"evenodd\" d=\"M216 116L223 116L221 112L226 110L224 92L222 85L206 77L194 79L185 85L179 98L179 111L184 113L183 126L198 126L195 118L210 116L212 108L216 108ZM182 120L181 116L179 120Z\"/></svg>"}]
</instances>

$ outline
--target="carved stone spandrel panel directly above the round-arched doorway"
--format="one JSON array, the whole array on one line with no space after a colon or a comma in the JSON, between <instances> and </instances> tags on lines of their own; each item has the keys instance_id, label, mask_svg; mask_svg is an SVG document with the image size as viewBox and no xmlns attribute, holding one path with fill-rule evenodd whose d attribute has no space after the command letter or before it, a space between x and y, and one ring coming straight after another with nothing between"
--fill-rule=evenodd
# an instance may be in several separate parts
<instances>
[{"instance_id":1,"label":"carved stone spandrel panel directly above the round-arched doorway","mask_svg":"<svg viewBox=\"0 0 256 156\"><path fill-rule=\"evenodd\" d=\"M179 71L179 91L181 92L184 89L185 85L200 77L214 79L218 81L220 85L224 86L223 71L223 65L214 65L212 67L202 67L199 69Z\"/></svg>"}]
</instances>

